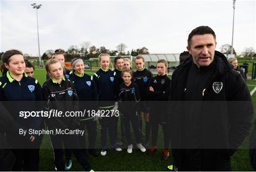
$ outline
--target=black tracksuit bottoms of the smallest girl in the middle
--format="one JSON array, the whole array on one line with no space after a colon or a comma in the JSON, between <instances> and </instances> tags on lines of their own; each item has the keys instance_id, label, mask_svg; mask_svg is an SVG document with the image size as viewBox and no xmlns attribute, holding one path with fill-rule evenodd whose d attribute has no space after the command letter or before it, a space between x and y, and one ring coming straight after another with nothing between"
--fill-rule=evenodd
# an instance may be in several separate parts
<instances>
[{"instance_id":1,"label":"black tracksuit bottoms of the smallest girl in the middle","mask_svg":"<svg viewBox=\"0 0 256 172\"><path fill-rule=\"evenodd\" d=\"M139 129L139 116L137 115L137 112L134 112L131 115L122 114L122 123L125 131L127 143L128 145L132 144L131 132L130 132L130 121L135 134L136 143L140 144L141 136L140 136L140 129Z\"/></svg>"}]
</instances>

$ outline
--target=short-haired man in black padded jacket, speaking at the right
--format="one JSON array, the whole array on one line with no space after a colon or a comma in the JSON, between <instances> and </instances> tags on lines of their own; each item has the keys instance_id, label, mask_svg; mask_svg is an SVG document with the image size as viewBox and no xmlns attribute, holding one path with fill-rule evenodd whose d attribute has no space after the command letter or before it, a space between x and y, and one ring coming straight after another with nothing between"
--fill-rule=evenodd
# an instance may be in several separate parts
<instances>
[{"instance_id":1,"label":"short-haired man in black padded jacket, speaking at the right","mask_svg":"<svg viewBox=\"0 0 256 172\"><path fill-rule=\"evenodd\" d=\"M215 48L210 27L193 29L191 57L172 75L168 126L178 171L231 171L230 156L252 125L246 82Z\"/></svg>"}]
</instances>

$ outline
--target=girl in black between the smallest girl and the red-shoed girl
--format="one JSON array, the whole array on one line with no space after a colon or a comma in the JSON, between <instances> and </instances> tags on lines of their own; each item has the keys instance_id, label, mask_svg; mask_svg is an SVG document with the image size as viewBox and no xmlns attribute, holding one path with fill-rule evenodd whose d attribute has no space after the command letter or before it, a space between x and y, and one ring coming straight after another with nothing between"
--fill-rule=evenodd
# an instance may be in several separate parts
<instances>
[{"instance_id":1,"label":"girl in black between the smallest girl and the red-shoed girl","mask_svg":"<svg viewBox=\"0 0 256 172\"><path fill-rule=\"evenodd\" d=\"M140 131L142 133L142 114L141 114L141 112L143 112L145 124L146 124L146 139L145 139L144 147L147 147L149 145L151 125L149 122L149 109L146 109L146 107L145 107L145 98L146 98L146 87L147 87L150 79L153 78L153 74L152 74L152 72L148 71L145 68L145 60L144 60L143 56L138 55L134 61L136 64L137 71L134 72L132 80L134 82L136 82L139 87L139 93L141 96L140 112L139 112L139 126L140 126Z\"/></svg>"}]
</instances>

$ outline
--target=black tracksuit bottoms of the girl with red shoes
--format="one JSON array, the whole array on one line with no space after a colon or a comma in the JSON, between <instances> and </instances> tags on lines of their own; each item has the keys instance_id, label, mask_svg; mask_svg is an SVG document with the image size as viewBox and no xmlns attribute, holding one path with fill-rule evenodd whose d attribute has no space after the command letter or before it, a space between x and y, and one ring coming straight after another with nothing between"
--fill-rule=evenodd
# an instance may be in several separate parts
<instances>
[{"instance_id":1,"label":"black tracksuit bottoms of the girl with red shoes","mask_svg":"<svg viewBox=\"0 0 256 172\"><path fill-rule=\"evenodd\" d=\"M163 133L164 133L165 149L169 149L170 139L168 137L167 123L161 122L161 116L163 115L161 113L163 113L163 112L154 111L154 110L150 111L149 118L150 118L150 122L151 122L151 126L152 126L152 131L151 131L152 146L156 145L156 140L158 137L158 127L159 127L159 124L161 124L162 128L163 128Z\"/></svg>"}]
</instances>

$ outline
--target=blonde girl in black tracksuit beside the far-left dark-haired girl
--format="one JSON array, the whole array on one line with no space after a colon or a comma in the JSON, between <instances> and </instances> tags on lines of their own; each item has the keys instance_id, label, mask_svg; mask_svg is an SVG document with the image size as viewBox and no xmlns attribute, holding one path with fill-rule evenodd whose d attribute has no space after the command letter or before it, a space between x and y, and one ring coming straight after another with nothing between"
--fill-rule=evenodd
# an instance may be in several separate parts
<instances>
[{"instance_id":1,"label":"blonde girl in black tracksuit beside the far-left dark-haired girl","mask_svg":"<svg viewBox=\"0 0 256 172\"><path fill-rule=\"evenodd\" d=\"M46 62L46 72L51 78L43 86L43 98L46 101L46 110L57 109L62 111L79 111L78 96L71 81L63 76L63 66L59 60L49 59ZM85 154L81 151L78 136L75 134L60 135L55 133L55 129L75 130L79 125L78 117L51 117L46 118L46 124L49 130L52 146L54 149L55 167L57 171L64 171L63 148L72 149L78 162L85 171L91 171L91 166Z\"/></svg>"}]
</instances>

